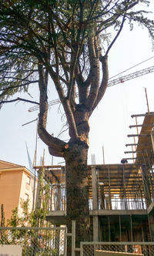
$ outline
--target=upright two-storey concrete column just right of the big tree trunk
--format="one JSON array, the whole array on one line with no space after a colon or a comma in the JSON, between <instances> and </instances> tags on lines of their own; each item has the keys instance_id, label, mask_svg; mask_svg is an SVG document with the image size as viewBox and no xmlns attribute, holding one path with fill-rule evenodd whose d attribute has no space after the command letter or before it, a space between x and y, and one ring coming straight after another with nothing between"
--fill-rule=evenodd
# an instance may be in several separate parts
<instances>
[{"instance_id":1,"label":"upright two-storey concrete column just right of the big tree trunk","mask_svg":"<svg viewBox=\"0 0 154 256\"><path fill-rule=\"evenodd\" d=\"M92 210L98 210L98 184L95 167L92 167ZM99 241L98 215L93 216L93 241Z\"/></svg>"}]
</instances>

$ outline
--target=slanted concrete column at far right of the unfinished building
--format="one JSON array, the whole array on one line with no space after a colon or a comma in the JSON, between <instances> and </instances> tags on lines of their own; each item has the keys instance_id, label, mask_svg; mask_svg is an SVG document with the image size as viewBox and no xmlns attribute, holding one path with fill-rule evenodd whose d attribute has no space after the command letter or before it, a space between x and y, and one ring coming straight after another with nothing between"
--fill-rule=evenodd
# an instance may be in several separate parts
<instances>
[{"instance_id":1,"label":"slanted concrete column at far right of the unfinished building","mask_svg":"<svg viewBox=\"0 0 154 256\"><path fill-rule=\"evenodd\" d=\"M142 165L142 182L144 185L144 192L146 197L146 207L148 208L152 200L150 195L149 177L148 177L148 171L146 170L146 165Z\"/></svg>"}]
</instances>

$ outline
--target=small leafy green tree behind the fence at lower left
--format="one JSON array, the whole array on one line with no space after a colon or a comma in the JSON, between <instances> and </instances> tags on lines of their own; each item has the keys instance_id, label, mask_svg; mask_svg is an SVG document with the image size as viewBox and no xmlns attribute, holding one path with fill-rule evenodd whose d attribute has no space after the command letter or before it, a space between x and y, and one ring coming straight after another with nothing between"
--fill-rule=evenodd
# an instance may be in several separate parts
<instances>
[{"instance_id":1,"label":"small leafy green tree behind the fence at lower left","mask_svg":"<svg viewBox=\"0 0 154 256\"><path fill-rule=\"evenodd\" d=\"M46 192L47 187L41 187L42 191ZM45 195L42 199L48 200L48 197L48 195ZM11 218L7 221L6 227L8 227L9 232L7 228L0 231L0 243L20 244L22 245L22 254L24 255L36 256L39 254L48 256L51 255L51 253L57 255L59 252L59 244L51 244L51 241L55 241L56 237L59 237L59 231L43 230L43 227L51 227L51 224L45 221L47 209L43 201L42 209L36 209L35 211L29 211L28 200L21 200L20 204L20 212L18 212L18 208L15 207L15 209L12 210ZM4 216L3 208L2 216ZM12 229L9 229L9 227L12 227ZM28 227L28 229L18 229L18 227Z\"/></svg>"}]
</instances>

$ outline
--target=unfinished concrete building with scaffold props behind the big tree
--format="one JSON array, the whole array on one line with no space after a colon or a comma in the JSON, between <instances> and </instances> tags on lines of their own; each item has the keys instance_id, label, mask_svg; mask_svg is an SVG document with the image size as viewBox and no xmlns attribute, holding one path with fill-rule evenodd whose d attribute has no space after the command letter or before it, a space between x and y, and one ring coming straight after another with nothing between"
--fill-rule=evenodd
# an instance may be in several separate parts
<instances>
[{"instance_id":1,"label":"unfinished concrete building with scaffold props behind the big tree","mask_svg":"<svg viewBox=\"0 0 154 256\"><path fill-rule=\"evenodd\" d=\"M130 126L137 133L128 135L134 140L126 145L126 163L88 167L93 241L154 241L154 113L132 117L138 116L144 120ZM45 166L45 177L51 181L47 219L64 224L65 167Z\"/></svg>"}]
</instances>

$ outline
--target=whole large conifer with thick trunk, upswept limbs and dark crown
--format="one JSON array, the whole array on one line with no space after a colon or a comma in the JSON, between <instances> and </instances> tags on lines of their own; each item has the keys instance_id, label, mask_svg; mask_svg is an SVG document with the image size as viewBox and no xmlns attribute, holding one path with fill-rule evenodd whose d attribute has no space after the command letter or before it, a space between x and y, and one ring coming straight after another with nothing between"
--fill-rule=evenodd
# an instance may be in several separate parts
<instances>
[{"instance_id":1,"label":"whole large conifer with thick trunk, upswept limbs and dark crown","mask_svg":"<svg viewBox=\"0 0 154 256\"><path fill-rule=\"evenodd\" d=\"M64 157L67 218L77 221L77 238L89 230L87 153L89 117L108 86L108 54L126 20L153 37L154 22L140 10L146 0L1 0L1 106L28 86L39 84L38 133L52 156ZM145 15L145 17L144 17ZM69 142L46 130L48 89L59 95L69 126ZM34 103L34 102L32 102ZM52 118L52 117L51 117Z\"/></svg>"}]
</instances>

